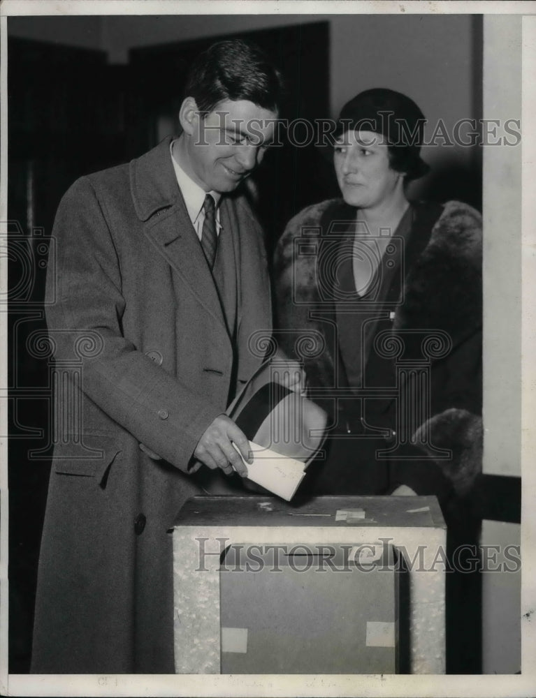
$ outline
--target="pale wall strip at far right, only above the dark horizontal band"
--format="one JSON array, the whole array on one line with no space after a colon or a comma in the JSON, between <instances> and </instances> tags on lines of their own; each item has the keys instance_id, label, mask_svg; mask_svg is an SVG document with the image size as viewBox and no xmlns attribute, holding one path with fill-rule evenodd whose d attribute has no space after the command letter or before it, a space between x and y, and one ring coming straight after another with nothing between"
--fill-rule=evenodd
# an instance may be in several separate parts
<instances>
[{"instance_id":1,"label":"pale wall strip at far right, only above the dark horizontal band","mask_svg":"<svg viewBox=\"0 0 536 698\"><path fill-rule=\"evenodd\" d=\"M484 26L484 116L521 119L521 17L491 15ZM521 147L484 149L484 204L484 366L490 398L484 397L484 415L497 425L486 430L484 471L519 476Z\"/></svg>"}]
</instances>

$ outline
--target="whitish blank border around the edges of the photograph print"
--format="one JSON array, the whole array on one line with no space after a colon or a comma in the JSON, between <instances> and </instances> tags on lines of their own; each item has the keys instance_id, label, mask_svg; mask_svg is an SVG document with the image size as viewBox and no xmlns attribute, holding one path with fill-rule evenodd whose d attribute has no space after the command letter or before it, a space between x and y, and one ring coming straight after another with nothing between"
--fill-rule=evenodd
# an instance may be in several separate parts
<instances>
[{"instance_id":1,"label":"whitish blank border around the edges of the photograph print","mask_svg":"<svg viewBox=\"0 0 536 698\"><path fill-rule=\"evenodd\" d=\"M361 2L348 0L333 1L272 1L256 0L229 2L180 1L180 0L5 0L0 6L1 40L1 154L0 154L0 221L7 220L7 24L8 15L153 15L153 14L516 14L525 15L522 20L522 124L536 124L536 3L534 2ZM485 36L484 36L485 40ZM484 163L486 161L484 160ZM536 196L532 194L536 181L536 135L534 129L523 131L522 142L522 320L521 334L522 364L522 429L521 463L522 490L522 595L521 595L521 667L520 675L472 676L63 676L7 674L8 641L8 491L7 491L7 444L1 443L0 469L1 488L1 555L0 555L0 625L2 648L0 692L3 695L161 695L161 696L525 696L535 695L536 690L536 517L535 509L536 473L533 468L536 453L536 370L532 357L536 356L535 305L536 297ZM489 177L484 170L484 202ZM496 186L496 184L493 184ZM487 192L490 195L490 192ZM493 192L493 196L500 192ZM485 216L485 211L484 211ZM1 223L2 236L6 224ZM1 291L7 285L7 260L0 260ZM0 313L2 325L0 336L0 385L7 385L6 313ZM507 371L505 371L507 380ZM2 401L5 402L5 401ZM0 424L7 433L6 406L2 405ZM306 542L306 541L305 541Z\"/></svg>"}]
</instances>

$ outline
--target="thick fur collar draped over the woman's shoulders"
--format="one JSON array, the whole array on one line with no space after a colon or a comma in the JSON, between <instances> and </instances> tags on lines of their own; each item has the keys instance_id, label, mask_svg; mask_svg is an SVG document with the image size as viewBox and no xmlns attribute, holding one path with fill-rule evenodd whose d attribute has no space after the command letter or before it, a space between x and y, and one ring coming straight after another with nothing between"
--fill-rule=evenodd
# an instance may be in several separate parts
<instances>
[{"instance_id":1,"label":"thick fur collar draped over the woman's shoulders","mask_svg":"<svg viewBox=\"0 0 536 698\"><path fill-rule=\"evenodd\" d=\"M417 215L422 206L416 205ZM296 254L295 240L303 238L306 228L325 228L345 208L349 209L342 200L326 200L307 207L289 221L277 245L274 265L280 327L300 327L295 321L306 309L296 303L319 302L317 258ZM428 244L407 269L405 303L396 312L393 327L443 329L454 343L478 330L482 316L481 251L478 211L462 202L447 202L433 225Z\"/></svg>"}]
</instances>

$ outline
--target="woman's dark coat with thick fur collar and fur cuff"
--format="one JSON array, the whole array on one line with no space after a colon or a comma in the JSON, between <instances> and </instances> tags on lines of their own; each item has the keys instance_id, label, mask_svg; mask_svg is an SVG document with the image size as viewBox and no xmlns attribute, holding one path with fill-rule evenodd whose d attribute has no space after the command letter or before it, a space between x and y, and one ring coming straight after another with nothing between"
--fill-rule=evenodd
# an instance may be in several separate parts
<instances>
[{"instance_id":1,"label":"woman's dark coat with thick fur collar and fur cuff","mask_svg":"<svg viewBox=\"0 0 536 698\"><path fill-rule=\"evenodd\" d=\"M288 355L307 349L297 358L332 417L315 493L407 484L448 513L481 468L481 216L456 201L406 215L362 299L356 209L326 200L295 216L275 256L277 327Z\"/></svg>"}]
</instances>

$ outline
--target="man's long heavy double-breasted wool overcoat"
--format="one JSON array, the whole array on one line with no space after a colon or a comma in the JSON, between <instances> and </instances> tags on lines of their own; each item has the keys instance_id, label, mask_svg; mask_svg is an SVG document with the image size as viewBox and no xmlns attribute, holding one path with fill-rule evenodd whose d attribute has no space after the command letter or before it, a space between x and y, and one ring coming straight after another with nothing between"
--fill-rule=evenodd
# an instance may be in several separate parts
<instances>
[{"instance_id":1,"label":"man's long heavy double-breasted wool overcoat","mask_svg":"<svg viewBox=\"0 0 536 698\"><path fill-rule=\"evenodd\" d=\"M271 327L263 235L243 195L222 199L220 222L236 260L233 331L169 140L82 177L61 200L47 284L56 443L36 673L174 670L167 532L201 492L191 466L198 439L261 363L250 337Z\"/></svg>"}]
</instances>

